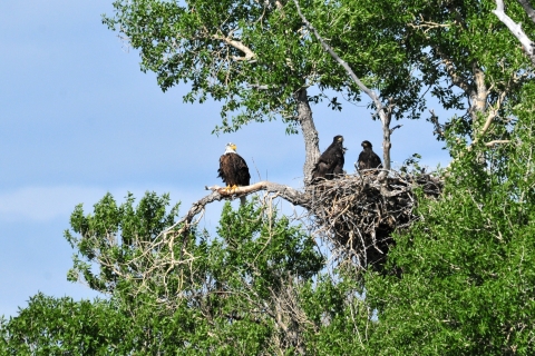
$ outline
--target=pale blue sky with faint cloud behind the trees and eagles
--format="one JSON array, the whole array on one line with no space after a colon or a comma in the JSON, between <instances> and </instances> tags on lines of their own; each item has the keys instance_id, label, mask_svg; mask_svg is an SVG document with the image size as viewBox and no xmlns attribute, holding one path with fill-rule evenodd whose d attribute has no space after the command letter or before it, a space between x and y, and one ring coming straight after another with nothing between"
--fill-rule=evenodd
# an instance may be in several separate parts
<instances>
[{"instance_id":1,"label":"pale blue sky with faint cloud behind the trees and eagles","mask_svg":"<svg viewBox=\"0 0 535 356\"><path fill-rule=\"evenodd\" d=\"M204 186L222 184L217 160L228 141L253 181L301 186L300 136L286 136L281 122L211 135L218 105L183 103L186 86L163 93L155 76L139 70L138 53L101 24L111 9L111 0L0 2L0 315L16 315L39 290L96 296L66 279L74 251L62 231L77 204L90 211L107 191L121 201L127 191L154 190L182 200L184 212ZM322 150L344 136L348 171L362 140L380 146L380 123L366 107L313 111ZM395 166L415 152L430 167L448 162L429 122L401 123ZM213 229L220 209L210 206L202 224Z\"/></svg>"}]
</instances>

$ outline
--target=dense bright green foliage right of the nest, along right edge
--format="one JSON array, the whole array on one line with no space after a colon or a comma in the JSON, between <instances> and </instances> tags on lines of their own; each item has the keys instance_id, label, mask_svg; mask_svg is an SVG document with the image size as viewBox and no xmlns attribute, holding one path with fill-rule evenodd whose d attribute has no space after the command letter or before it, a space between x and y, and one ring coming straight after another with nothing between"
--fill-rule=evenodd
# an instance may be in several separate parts
<instances>
[{"instance_id":1,"label":"dense bright green foliage right of the nest, along right edge","mask_svg":"<svg viewBox=\"0 0 535 356\"><path fill-rule=\"evenodd\" d=\"M510 144L459 156L444 198L422 204L421 221L397 236L389 264L401 276L369 276L380 354L533 354L535 126L525 109L514 112Z\"/></svg>"}]
</instances>

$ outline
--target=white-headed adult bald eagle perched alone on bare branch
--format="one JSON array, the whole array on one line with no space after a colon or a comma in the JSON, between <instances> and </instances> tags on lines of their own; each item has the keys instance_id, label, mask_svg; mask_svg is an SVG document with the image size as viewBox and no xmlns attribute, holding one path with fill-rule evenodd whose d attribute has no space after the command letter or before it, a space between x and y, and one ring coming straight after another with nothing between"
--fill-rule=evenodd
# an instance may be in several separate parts
<instances>
[{"instance_id":1,"label":"white-headed adult bald eagle perched alone on bare branch","mask_svg":"<svg viewBox=\"0 0 535 356\"><path fill-rule=\"evenodd\" d=\"M249 186L251 175L242 156L236 154L236 145L226 144L225 152L220 157L218 176L226 184L226 189L232 190L241 186ZM241 204L245 204L245 197L240 197Z\"/></svg>"}]
</instances>

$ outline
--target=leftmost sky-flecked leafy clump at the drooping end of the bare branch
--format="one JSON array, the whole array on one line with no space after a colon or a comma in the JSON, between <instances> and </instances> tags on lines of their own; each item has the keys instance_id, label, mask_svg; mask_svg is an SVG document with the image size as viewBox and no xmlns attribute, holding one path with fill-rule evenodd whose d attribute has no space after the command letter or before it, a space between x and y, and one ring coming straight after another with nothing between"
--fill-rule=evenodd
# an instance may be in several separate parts
<instances>
[{"instance_id":1,"label":"leftmost sky-flecked leafy clump at the drooping end of the bare branch","mask_svg":"<svg viewBox=\"0 0 535 356\"><path fill-rule=\"evenodd\" d=\"M139 257L147 245L173 226L178 205L166 211L169 196L158 197L155 192L146 192L137 207L134 204L132 194L120 206L107 194L95 205L93 215L85 216L81 205L76 207L70 217L72 231L65 231L66 239L78 250L69 280L84 278L93 289L111 293L123 283L143 279L156 250L150 250L150 256ZM157 251L168 253L168 248ZM98 274L95 267L99 267Z\"/></svg>"}]
</instances>

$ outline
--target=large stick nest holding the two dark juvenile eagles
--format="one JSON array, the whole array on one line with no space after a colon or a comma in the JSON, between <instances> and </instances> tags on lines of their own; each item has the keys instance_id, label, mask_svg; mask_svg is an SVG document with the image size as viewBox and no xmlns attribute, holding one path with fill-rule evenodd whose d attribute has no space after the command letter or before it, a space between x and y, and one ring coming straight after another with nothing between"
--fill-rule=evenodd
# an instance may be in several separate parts
<instances>
[{"instance_id":1,"label":"large stick nest holding the two dark juvenile eagles","mask_svg":"<svg viewBox=\"0 0 535 356\"><path fill-rule=\"evenodd\" d=\"M310 212L317 233L334 245L337 256L367 269L382 270L392 233L418 220L416 190L436 199L442 181L431 175L344 176L310 187Z\"/></svg>"}]
</instances>

